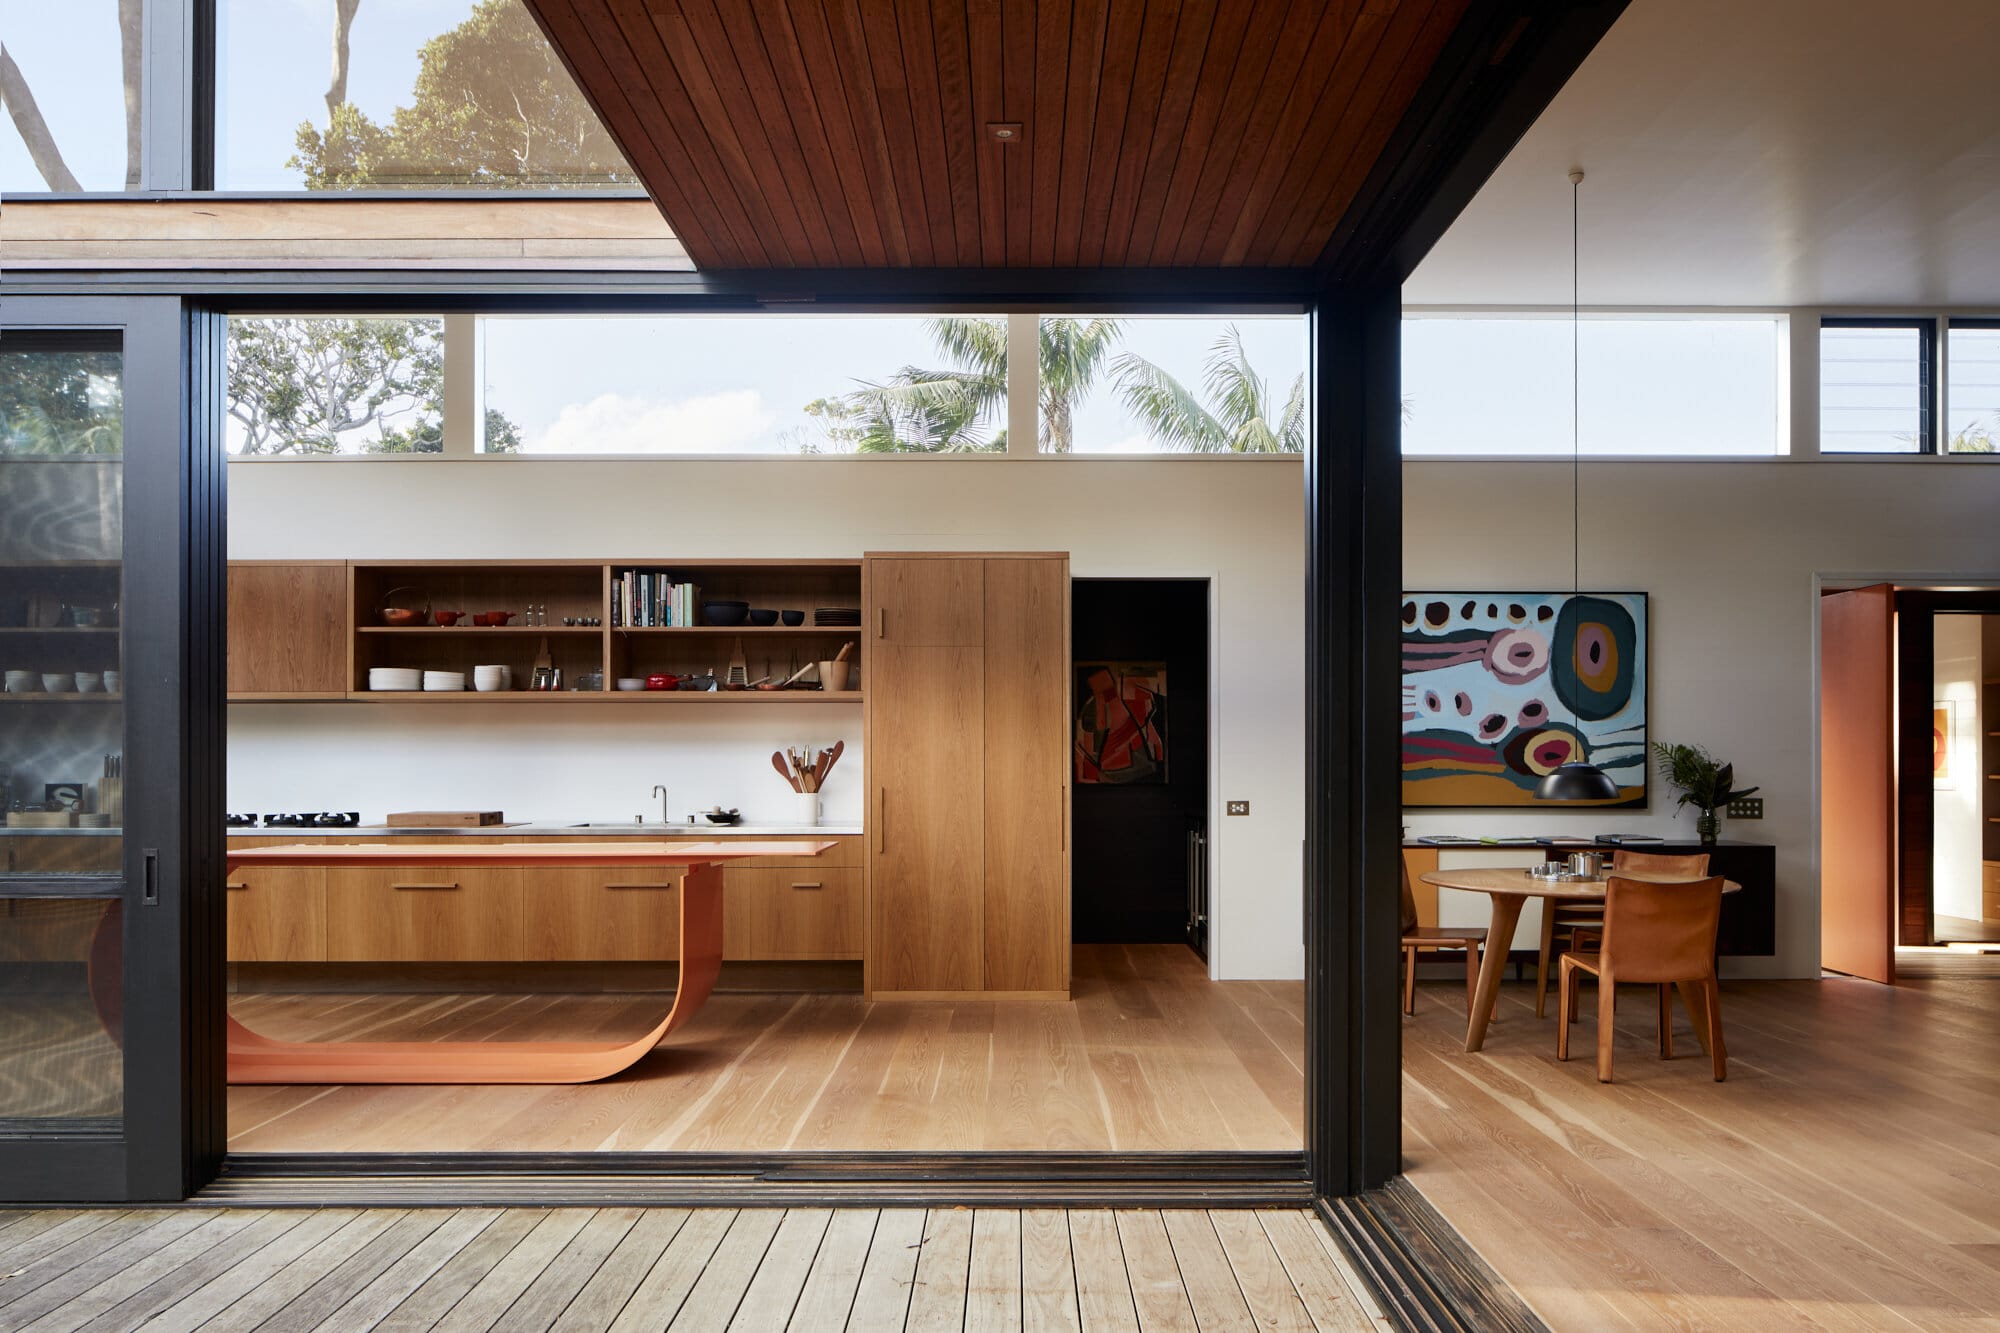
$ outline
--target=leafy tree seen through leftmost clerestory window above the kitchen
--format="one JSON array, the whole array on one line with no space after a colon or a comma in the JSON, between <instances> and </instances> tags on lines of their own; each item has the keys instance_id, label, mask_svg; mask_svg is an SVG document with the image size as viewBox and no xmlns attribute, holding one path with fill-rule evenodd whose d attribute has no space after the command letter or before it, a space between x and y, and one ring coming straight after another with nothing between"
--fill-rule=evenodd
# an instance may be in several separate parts
<instances>
[{"instance_id":1,"label":"leafy tree seen through leftmost clerestory window above the kitchen","mask_svg":"<svg viewBox=\"0 0 2000 1333\"><path fill-rule=\"evenodd\" d=\"M436 318L230 320L238 454L444 452L444 324ZM520 426L486 408L486 452Z\"/></svg>"}]
</instances>

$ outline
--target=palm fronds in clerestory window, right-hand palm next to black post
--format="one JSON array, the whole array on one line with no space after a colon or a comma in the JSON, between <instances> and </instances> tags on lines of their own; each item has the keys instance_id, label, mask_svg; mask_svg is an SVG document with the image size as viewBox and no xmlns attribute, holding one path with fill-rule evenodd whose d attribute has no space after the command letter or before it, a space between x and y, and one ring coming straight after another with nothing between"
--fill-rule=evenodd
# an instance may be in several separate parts
<instances>
[{"instance_id":1,"label":"palm fronds in clerestory window, right-hand palm next to black post","mask_svg":"<svg viewBox=\"0 0 2000 1333\"><path fill-rule=\"evenodd\" d=\"M1250 364L1242 330L1230 324L1202 364L1206 400L1136 352L1112 362L1126 410L1162 448L1194 454L1298 454L1306 450L1306 376L1280 404Z\"/></svg>"}]
</instances>

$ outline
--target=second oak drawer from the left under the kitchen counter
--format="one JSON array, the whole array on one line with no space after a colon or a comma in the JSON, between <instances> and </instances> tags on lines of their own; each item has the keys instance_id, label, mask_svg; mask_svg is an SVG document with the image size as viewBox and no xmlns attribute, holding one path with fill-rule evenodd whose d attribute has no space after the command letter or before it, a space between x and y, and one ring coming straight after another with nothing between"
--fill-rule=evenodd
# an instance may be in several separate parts
<instances>
[{"instance_id":1,"label":"second oak drawer from the left under the kitchen counter","mask_svg":"<svg viewBox=\"0 0 2000 1333\"><path fill-rule=\"evenodd\" d=\"M520 871L330 867L332 963L494 963L522 957Z\"/></svg>"}]
</instances>

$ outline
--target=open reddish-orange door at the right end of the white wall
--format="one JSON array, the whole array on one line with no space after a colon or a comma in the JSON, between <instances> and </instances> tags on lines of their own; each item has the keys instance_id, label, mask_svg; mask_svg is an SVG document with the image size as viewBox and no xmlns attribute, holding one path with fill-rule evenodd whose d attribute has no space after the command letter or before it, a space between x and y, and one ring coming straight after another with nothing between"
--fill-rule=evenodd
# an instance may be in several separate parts
<instances>
[{"instance_id":1,"label":"open reddish-orange door at the right end of the white wall","mask_svg":"<svg viewBox=\"0 0 2000 1333\"><path fill-rule=\"evenodd\" d=\"M1894 588L1820 598L1820 965L1896 979Z\"/></svg>"}]
</instances>

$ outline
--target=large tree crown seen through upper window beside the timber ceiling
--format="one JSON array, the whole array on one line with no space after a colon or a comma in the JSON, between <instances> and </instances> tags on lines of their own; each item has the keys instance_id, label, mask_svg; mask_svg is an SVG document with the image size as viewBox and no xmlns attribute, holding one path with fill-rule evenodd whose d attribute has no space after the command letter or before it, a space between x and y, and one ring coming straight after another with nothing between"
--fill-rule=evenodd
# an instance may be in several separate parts
<instances>
[{"instance_id":1,"label":"large tree crown seen through upper window beside the timber ceiling","mask_svg":"<svg viewBox=\"0 0 2000 1333\"><path fill-rule=\"evenodd\" d=\"M366 16L360 22L368 22ZM346 82L336 72L344 94ZM298 126L308 190L590 188L636 176L520 0L480 0L424 44L410 104L376 124L340 102Z\"/></svg>"}]
</instances>

